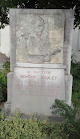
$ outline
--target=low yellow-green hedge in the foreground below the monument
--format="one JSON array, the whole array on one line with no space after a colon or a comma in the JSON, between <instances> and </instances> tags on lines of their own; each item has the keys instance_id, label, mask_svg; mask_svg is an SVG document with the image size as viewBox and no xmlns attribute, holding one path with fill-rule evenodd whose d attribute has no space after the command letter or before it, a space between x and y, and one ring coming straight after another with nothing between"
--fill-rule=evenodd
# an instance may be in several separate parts
<instances>
[{"instance_id":1,"label":"low yellow-green hedge in the foreground below the monument","mask_svg":"<svg viewBox=\"0 0 80 139\"><path fill-rule=\"evenodd\" d=\"M15 117L9 116L11 121L5 121L6 115L1 113L0 139L8 139L9 137L13 139L64 139L64 124L62 123L51 123L48 120L41 121L36 118L36 115L32 116L30 120L21 119L21 114L18 114L17 109L15 115Z\"/></svg>"}]
</instances>

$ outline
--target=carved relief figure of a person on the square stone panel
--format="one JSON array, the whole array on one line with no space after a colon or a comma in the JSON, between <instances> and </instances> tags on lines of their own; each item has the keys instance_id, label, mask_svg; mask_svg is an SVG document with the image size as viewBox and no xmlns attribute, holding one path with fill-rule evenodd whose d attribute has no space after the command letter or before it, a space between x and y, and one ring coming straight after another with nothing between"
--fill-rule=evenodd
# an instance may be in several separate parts
<instances>
[{"instance_id":1,"label":"carved relief figure of a person on the square stone panel","mask_svg":"<svg viewBox=\"0 0 80 139\"><path fill-rule=\"evenodd\" d=\"M27 20L28 17L26 22ZM56 34L59 33L55 29L51 31L49 26L48 18L45 19L44 16L39 15L32 15L26 28L23 26L25 31L19 36L19 41L22 38L23 48L25 48L24 59L27 59L25 61L28 63L50 63L52 56L61 52L61 47L56 47L58 39L56 41L55 37L53 37L55 32Z\"/></svg>"}]
</instances>

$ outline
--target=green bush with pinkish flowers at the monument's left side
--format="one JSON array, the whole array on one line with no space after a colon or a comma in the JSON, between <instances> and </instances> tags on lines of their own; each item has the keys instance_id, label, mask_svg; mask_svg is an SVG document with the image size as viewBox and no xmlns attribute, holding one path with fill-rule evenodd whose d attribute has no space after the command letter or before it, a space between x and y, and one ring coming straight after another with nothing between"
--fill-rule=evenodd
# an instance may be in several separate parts
<instances>
[{"instance_id":1,"label":"green bush with pinkish flowers at the monument's left side","mask_svg":"<svg viewBox=\"0 0 80 139\"><path fill-rule=\"evenodd\" d=\"M0 102L7 100L7 74L10 72L10 62L3 64L3 72L0 73Z\"/></svg>"}]
</instances>

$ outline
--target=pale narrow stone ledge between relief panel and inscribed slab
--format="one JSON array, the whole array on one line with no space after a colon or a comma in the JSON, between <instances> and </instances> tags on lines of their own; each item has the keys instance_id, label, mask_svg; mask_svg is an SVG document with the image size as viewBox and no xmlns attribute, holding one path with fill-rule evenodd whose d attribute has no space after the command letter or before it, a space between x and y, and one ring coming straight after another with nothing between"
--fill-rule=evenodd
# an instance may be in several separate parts
<instances>
[{"instance_id":1,"label":"pale narrow stone ledge between relief panel and inscribed slab","mask_svg":"<svg viewBox=\"0 0 80 139\"><path fill-rule=\"evenodd\" d=\"M25 68L48 68L48 69L66 69L63 64L32 64L32 63L16 63L14 67Z\"/></svg>"}]
</instances>

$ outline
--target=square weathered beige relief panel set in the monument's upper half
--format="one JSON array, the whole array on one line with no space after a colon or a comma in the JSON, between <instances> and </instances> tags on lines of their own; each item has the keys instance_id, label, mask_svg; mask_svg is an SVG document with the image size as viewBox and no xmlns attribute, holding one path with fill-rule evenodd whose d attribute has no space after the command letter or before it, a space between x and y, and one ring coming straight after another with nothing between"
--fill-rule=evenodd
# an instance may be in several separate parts
<instances>
[{"instance_id":1,"label":"square weathered beige relief panel set in the monument's upper half","mask_svg":"<svg viewBox=\"0 0 80 139\"><path fill-rule=\"evenodd\" d=\"M19 14L16 61L63 63L64 14Z\"/></svg>"}]
</instances>

